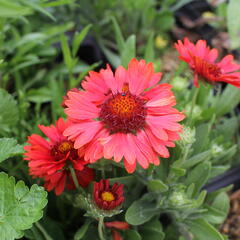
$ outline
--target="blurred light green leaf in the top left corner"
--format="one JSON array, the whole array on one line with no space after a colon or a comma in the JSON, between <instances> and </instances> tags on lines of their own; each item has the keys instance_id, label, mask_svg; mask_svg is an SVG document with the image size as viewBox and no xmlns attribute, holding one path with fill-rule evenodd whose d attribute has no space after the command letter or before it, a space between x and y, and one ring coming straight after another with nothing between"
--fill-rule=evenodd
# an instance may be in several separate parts
<instances>
[{"instance_id":1,"label":"blurred light green leaf in the top left corner","mask_svg":"<svg viewBox=\"0 0 240 240\"><path fill-rule=\"evenodd\" d=\"M0 18L16 18L29 15L32 10L14 1L0 0Z\"/></svg>"}]
</instances>

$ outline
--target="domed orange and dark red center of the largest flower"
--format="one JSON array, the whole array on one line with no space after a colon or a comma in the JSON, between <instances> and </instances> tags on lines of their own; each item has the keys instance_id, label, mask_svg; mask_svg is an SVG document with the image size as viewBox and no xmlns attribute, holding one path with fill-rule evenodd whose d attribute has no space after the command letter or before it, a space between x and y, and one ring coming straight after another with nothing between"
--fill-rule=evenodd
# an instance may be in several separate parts
<instances>
[{"instance_id":1,"label":"domed orange and dark red center of the largest flower","mask_svg":"<svg viewBox=\"0 0 240 240\"><path fill-rule=\"evenodd\" d=\"M145 101L129 92L123 92L103 103L99 117L111 133L134 134L145 126L145 115Z\"/></svg>"}]
</instances>

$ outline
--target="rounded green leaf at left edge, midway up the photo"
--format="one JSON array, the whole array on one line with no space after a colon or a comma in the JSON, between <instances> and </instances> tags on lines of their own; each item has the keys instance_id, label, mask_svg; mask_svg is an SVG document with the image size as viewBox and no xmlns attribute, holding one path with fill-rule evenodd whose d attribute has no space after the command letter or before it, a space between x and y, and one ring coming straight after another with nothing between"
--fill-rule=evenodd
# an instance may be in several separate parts
<instances>
[{"instance_id":1,"label":"rounded green leaf at left edge, midway up the photo","mask_svg":"<svg viewBox=\"0 0 240 240\"><path fill-rule=\"evenodd\" d=\"M11 111L9 111L11 109ZM0 129L17 124L19 112L14 98L5 90L0 89Z\"/></svg>"}]
</instances>

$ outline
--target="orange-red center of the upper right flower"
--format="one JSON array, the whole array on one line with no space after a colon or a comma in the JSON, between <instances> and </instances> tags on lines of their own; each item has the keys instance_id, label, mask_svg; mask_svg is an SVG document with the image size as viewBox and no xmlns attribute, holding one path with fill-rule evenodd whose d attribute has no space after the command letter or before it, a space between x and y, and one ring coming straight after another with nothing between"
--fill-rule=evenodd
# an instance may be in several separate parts
<instances>
[{"instance_id":1,"label":"orange-red center of the upper right flower","mask_svg":"<svg viewBox=\"0 0 240 240\"><path fill-rule=\"evenodd\" d=\"M195 57L195 70L209 82L216 81L216 79L220 78L222 74L221 68L216 64L209 63L199 57Z\"/></svg>"}]
</instances>

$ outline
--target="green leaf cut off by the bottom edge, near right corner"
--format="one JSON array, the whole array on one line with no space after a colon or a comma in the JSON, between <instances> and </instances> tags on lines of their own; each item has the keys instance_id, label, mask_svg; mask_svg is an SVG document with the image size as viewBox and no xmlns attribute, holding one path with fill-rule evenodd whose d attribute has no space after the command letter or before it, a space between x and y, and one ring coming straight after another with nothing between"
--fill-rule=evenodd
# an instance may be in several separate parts
<instances>
[{"instance_id":1,"label":"green leaf cut off by the bottom edge, near right corner","mask_svg":"<svg viewBox=\"0 0 240 240\"><path fill-rule=\"evenodd\" d=\"M223 236L204 219L192 219L186 223L194 235L194 240L224 240Z\"/></svg>"}]
</instances>

